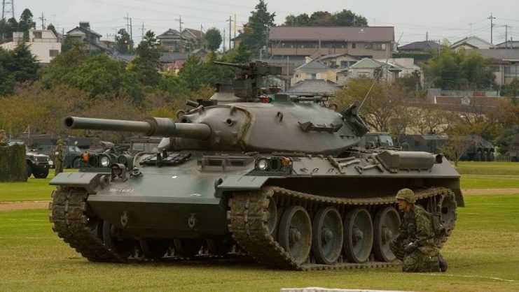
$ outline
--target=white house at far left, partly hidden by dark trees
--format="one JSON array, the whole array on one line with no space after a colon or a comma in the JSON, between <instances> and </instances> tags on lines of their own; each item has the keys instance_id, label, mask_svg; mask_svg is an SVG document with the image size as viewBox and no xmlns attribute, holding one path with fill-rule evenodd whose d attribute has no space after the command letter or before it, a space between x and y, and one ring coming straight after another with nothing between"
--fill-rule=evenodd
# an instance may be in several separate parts
<instances>
[{"instance_id":1,"label":"white house at far left, partly hidden by dark trees","mask_svg":"<svg viewBox=\"0 0 519 292\"><path fill-rule=\"evenodd\" d=\"M23 41L23 32L13 32L13 41L2 43L1 48L13 50ZM40 64L49 64L61 52L61 43L53 31L46 29L29 30L29 41L26 42L31 53L36 56Z\"/></svg>"}]
</instances>

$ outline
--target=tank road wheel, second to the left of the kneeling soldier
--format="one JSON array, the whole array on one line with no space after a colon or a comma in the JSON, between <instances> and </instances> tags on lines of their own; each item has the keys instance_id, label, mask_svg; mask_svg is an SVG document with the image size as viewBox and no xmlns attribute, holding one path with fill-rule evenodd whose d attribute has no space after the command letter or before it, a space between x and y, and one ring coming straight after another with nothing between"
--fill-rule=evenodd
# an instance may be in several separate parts
<instances>
[{"instance_id":1,"label":"tank road wheel, second to the left of the kneeling soldier","mask_svg":"<svg viewBox=\"0 0 519 292\"><path fill-rule=\"evenodd\" d=\"M343 250L351 263L366 263L373 247L373 223L364 207L350 210L344 219Z\"/></svg>"}]
</instances>

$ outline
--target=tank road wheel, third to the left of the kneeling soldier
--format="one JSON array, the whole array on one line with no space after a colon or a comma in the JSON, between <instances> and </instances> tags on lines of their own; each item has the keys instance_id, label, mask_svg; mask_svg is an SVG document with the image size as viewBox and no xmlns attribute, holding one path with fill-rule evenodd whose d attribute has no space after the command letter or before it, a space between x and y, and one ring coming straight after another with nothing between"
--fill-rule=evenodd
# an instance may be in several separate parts
<instances>
[{"instance_id":1,"label":"tank road wheel, third to the left of the kneeling soldier","mask_svg":"<svg viewBox=\"0 0 519 292\"><path fill-rule=\"evenodd\" d=\"M312 222L312 251L317 263L331 265L342 251L342 218L334 207L317 211Z\"/></svg>"}]
</instances>

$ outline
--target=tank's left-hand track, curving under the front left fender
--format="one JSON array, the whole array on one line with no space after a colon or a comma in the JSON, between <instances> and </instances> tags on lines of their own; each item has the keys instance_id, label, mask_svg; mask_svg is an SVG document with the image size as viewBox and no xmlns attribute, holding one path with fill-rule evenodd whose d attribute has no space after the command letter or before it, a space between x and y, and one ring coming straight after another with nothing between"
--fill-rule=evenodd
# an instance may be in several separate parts
<instances>
[{"instance_id":1,"label":"tank's left-hand track, curving under the front left fender","mask_svg":"<svg viewBox=\"0 0 519 292\"><path fill-rule=\"evenodd\" d=\"M118 256L106 247L98 235L97 220L87 216L88 197L85 189L57 187L49 204L49 216L53 231L88 261L124 263L126 258Z\"/></svg>"}]
</instances>

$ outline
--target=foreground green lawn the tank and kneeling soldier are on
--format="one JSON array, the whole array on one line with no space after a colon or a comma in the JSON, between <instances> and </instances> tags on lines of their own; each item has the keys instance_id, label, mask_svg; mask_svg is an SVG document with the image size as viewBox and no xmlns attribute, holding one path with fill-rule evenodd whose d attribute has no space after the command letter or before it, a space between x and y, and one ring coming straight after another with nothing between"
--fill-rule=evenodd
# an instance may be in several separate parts
<instances>
[{"instance_id":1,"label":"foreground green lawn the tank and kneeling soldier are on","mask_svg":"<svg viewBox=\"0 0 519 292\"><path fill-rule=\"evenodd\" d=\"M0 290L279 291L283 287L519 291L519 194L469 196L443 254L446 273L399 268L292 272L249 259L90 263L51 231L48 210L0 212Z\"/></svg>"}]
</instances>

